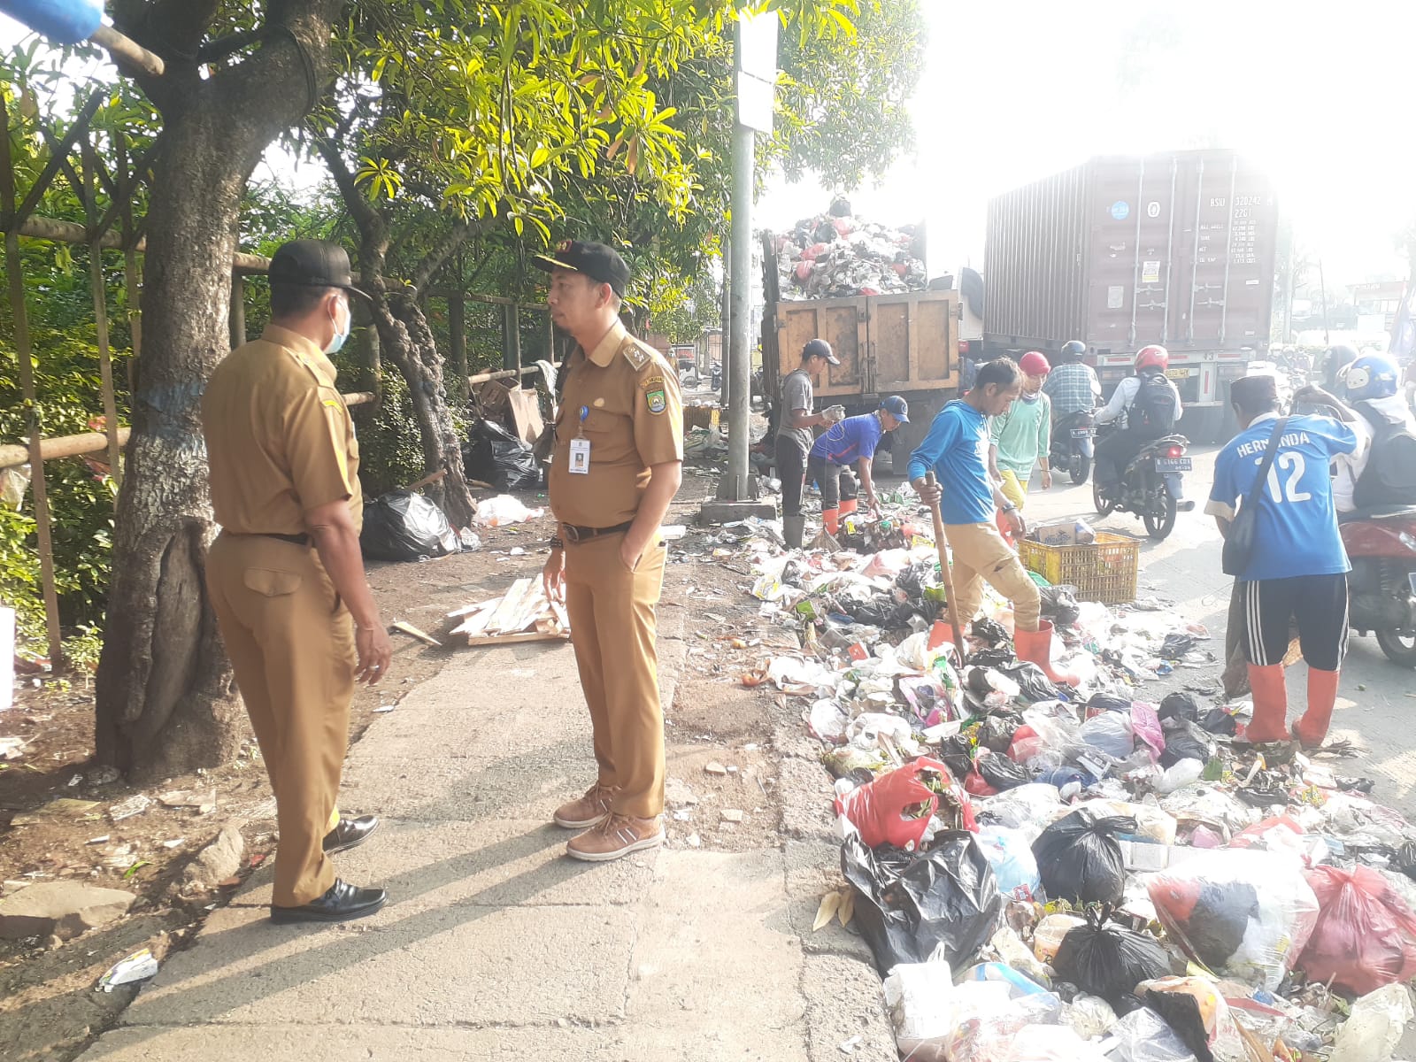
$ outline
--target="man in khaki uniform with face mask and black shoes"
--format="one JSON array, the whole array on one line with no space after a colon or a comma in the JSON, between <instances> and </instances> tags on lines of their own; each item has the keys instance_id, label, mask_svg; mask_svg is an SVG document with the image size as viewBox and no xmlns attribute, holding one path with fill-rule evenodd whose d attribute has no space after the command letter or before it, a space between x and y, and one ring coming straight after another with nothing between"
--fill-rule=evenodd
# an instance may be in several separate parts
<instances>
[{"instance_id":1,"label":"man in khaki uniform with face mask and black shoes","mask_svg":"<svg viewBox=\"0 0 1416 1062\"><path fill-rule=\"evenodd\" d=\"M201 401L221 524L207 592L276 797L273 922L341 922L382 889L334 877L374 816L336 809L355 680L388 670L364 579L354 422L327 354L350 333L348 256L299 239L270 259L270 326L217 365Z\"/></svg>"}]
</instances>

